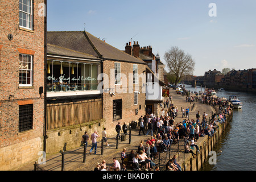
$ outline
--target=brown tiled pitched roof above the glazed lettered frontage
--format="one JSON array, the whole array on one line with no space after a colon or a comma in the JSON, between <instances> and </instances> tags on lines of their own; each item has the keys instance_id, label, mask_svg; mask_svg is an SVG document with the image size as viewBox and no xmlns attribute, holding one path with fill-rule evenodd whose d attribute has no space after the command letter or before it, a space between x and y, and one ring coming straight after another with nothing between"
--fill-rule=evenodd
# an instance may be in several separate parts
<instances>
[{"instance_id":1,"label":"brown tiled pitched roof above the glazed lettered frontage","mask_svg":"<svg viewBox=\"0 0 256 182\"><path fill-rule=\"evenodd\" d=\"M52 45L47 50L49 53L61 54L67 51L65 54L73 56L82 56L84 54L84 56L100 57L106 60L146 64L143 60L110 46L86 31L50 31L47 32L47 44Z\"/></svg>"}]
</instances>

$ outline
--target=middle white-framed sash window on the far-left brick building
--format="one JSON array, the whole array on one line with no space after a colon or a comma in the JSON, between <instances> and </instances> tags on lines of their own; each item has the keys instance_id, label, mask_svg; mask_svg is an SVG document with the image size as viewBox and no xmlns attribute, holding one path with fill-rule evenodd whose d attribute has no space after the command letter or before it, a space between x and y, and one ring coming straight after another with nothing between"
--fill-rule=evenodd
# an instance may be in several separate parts
<instances>
[{"instance_id":1,"label":"middle white-framed sash window on the far-left brick building","mask_svg":"<svg viewBox=\"0 0 256 182\"><path fill-rule=\"evenodd\" d=\"M19 55L19 86L32 86L31 55Z\"/></svg>"}]
</instances>

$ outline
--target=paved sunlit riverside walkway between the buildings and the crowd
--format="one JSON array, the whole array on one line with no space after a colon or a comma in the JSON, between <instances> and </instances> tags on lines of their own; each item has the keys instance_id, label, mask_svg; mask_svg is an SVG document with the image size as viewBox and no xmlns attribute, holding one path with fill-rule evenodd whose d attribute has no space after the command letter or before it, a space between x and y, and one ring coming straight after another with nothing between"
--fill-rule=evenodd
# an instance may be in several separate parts
<instances>
[{"instance_id":1,"label":"paved sunlit riverside walkway between the buildings and the crowd","mask_svg":"<svg viewBox=\"0 0 256 182\"><path fill-rule=\"evenodd\" d=\"M177 122L183 122L182 113L180 108L184 107L191 110L191 106L193 104L190 102L186 102L185 96L181 96L180 94L176 94L175 90L170 89L170 95L172 96L172 101L174 103L174 106L177 106L179 111L177 114L177 117L175 118L176 125ZM197 111L200 111L200 115L202 115L204 112L208 115L211 115L212 111L215 112L213 107L210 105L200 104L200 102L195 102L195 107L193 107L192 111L189 111L189 119L196 119L196 113ZM138 118L139 119L139 118ZM201 118L200 118L201 119ZM137 126L136 129L131 130L131 144L129 144L129 135L127 135L126 140L123 142L119 142L118 149L116 148L116 135L109 136L108 137L108 143L109 146L106 147L106 144L104 143L104 153L101 155L101 142L98 143L97 147L97 154L89 154L89 150L91 147L91 143L88 143L88 147L86 150L86 160L85 163L83 163L83 152L84 147L77 147L74 148L71 151L65 151L64 152L64 170L65 171L93 171L94 167L96 167L96 163L101 163L102 160L106 160L106 166L112 166L113 164L113 158L117 157L118 161L121 162L121 152L123 148L126 148L126 152L130 153L131 150L137 151L139 143L141 141L144 141L144 146L146 145L146 140L150 136L139 136L139 128ZM82 136L81 136L82 137ZM81 140L81 138L77 138L78 140ZM205 137L200 137L199 140L197 140L197 144L200 144L200 142L203 142ZM191 154L184 154L184 152L179 153L179 148L177 148L177 144L173 144L171 147L171 153L170 157L172 158L173 155L179 154L179 158L177 158L178 163L183 163L184 160L187 160L188 158L191 158ZM184 149L184 143L180 142L179 144L180 149ZM181 150L182 151L182 150ZM40 167L43 167L43 169L47 171L61 171L62 169L62 155L61 154L55 154L55 155L47 155L46 156L46 163L41 164ZM155 163L158 163L158 159L154 160ZM160 170L165 170L166 163L168 162L166 153L160 154ZM34 171L34 163L30 163L27 166L24 166L22 168L17 169L18 171Z\"/></svg>"}]
</instances>

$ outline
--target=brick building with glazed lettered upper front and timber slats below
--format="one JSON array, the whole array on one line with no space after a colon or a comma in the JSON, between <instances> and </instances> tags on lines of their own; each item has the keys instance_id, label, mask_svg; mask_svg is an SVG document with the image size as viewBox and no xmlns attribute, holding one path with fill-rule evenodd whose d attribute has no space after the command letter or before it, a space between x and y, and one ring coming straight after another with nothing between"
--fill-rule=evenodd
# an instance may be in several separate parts
<instances>
[{"instance_id":1,"label":"brick building with glazed lettered upper front and timber slats below","mask_svg":"<svg viewBox=\"0 0 256 182\"><path fill-rule=\"evenodd\" d=\"M86 31L47 32L47 154L145 114L146 63ZM101 76L104 75L104 77Z\"/></svg>"}]
</instances>

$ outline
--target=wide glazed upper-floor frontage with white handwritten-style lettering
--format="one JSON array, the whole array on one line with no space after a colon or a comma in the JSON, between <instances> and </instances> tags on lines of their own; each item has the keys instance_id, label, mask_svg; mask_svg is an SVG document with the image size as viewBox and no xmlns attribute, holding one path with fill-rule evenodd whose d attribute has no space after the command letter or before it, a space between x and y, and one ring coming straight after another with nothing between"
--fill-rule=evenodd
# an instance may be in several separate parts
<instances>
[{"instance_id":1,"label":"wide glazed upper-floor frontage with white handwritten-style lettering","mask_svg":"<svg viewBox=\"0 0 256 182\"><path fill-rule=\"evenodd\" d=\"M100 64L47 61L46 91L69 92L98 89Z\"/></svg>"}]
</instances>

